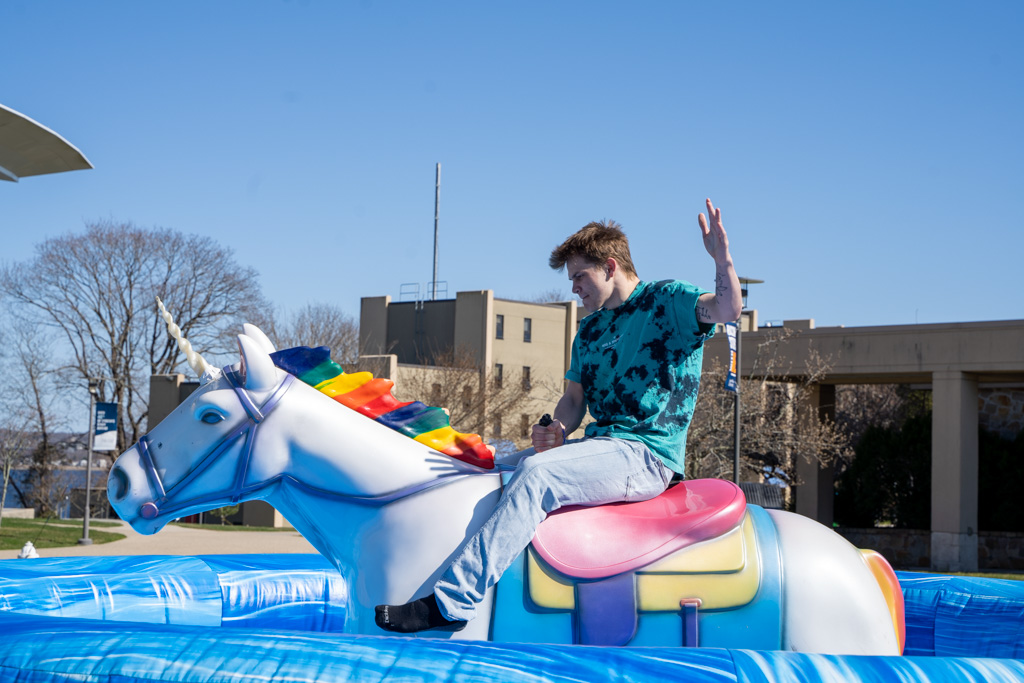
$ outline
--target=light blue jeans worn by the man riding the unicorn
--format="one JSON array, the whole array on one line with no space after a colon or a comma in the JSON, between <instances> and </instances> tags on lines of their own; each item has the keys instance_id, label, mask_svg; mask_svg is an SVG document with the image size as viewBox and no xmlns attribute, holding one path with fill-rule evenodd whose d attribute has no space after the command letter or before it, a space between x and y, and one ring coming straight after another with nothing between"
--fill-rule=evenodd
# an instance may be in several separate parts
<instances>
[{"instance_id":1,"label":"light blue jeans worn by the man riding the unicorn","mask_svg":"<svg viewBox=\"0 0 1024 683\"><path fill-rule=\"evenodd\" d=\"M488 588L498 583L534 539L548 513L565 505L602 505L654 498L672 470L640 441L585 438L536 453L521 451L503 464L518 466L494 512L466 542L434 586L441 612L469 621Z\"/></svg>"}]
</instances>

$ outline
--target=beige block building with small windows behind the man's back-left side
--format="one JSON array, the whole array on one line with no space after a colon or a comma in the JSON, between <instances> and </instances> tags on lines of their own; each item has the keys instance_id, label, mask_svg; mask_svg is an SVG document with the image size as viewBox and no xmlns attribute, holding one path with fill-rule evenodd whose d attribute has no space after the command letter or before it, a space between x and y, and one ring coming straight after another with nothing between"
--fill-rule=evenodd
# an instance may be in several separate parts
<instances>
[{"instance_id":1,"label":"beige block building with small windows behind the man's back-left side","mask_svg":"<svg viewBox=\"0 0 1024 683\"><path fill-rule=\"evenodd\" d=\"M451 410L453 423L464 430L457 424L460 403L472 402L470 394L483 383L500 385L504 391L492 388L492 404L475 430L487 441L523 446L529 427L554 411L564 390L577 310L575 302L499 299L490 290L438 301L367 297L359 310L360 369L394 380L400 399ZM452 383L460 385L454 398ZM437 402L442 397L449 404Z\"/></svg>"}]
</instances>

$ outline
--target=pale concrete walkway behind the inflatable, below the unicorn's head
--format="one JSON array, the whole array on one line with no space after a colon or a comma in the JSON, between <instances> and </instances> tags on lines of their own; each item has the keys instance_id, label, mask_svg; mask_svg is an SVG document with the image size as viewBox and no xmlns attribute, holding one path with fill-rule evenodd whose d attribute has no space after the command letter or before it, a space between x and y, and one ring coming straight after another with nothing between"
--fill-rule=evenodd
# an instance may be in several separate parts
<instances>
[{"instance_id":1,"label":"pale concrete walkway behind the inflatable, below the unicorn's head","mask_svg":"<svg viewBox=\"0 0 1024 683\"><path fill-rule=\"evenodd\" d=\"M112 526L90 527L90 531L124 533L121 541L69 546L67 548L39 548L40 557L77 557L83 555L241 555L248 553L315 553L316 550L298 531L219 531L185 528L169 524L153 536L138 533L127 522L121 528ZM0 550L0 560L13 559L22 552Z\"/></svg>"}]
</instances>

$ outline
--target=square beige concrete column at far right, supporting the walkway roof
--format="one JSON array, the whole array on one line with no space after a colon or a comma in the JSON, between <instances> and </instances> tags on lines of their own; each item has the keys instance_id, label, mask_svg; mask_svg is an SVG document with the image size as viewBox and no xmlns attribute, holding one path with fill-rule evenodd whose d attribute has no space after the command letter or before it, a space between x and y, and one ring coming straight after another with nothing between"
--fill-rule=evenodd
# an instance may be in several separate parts
<instances>
[{"instance_id":1,"label":"square beige concrete column at far right, supporting the walkway roof","mask_svg":"<svg viewBox=\"0 0 1024 683\"><path fill-rule=\"evenodd\" d=\"M978 568L978 381L932 373L932 568Z\"/></svg>"}]
</instances>

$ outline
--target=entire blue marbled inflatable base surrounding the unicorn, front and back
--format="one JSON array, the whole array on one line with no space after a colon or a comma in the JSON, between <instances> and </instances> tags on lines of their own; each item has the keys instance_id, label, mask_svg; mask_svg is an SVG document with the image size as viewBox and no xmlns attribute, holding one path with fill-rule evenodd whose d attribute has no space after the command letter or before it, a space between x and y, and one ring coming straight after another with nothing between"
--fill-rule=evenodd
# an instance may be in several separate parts
<instances>
[{"instance_id":1,"label":"entire blue marbled inflatable base surrounding the unicorn, front and back","mask_svg":"<svg viewBox=\"0 0 1024 683\"><path fill-rule=\"evenodd\" d=\"M0 681L1024 681L1024 584L898 575L906 656L874 657L349 636L318 555L5 560Z\"/></svg>"}]
</instances>

